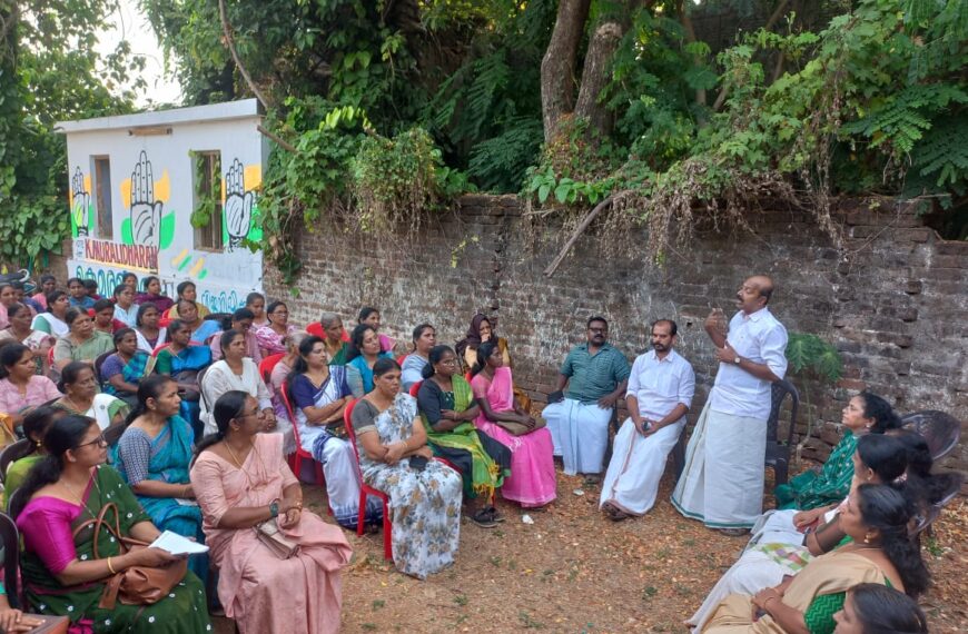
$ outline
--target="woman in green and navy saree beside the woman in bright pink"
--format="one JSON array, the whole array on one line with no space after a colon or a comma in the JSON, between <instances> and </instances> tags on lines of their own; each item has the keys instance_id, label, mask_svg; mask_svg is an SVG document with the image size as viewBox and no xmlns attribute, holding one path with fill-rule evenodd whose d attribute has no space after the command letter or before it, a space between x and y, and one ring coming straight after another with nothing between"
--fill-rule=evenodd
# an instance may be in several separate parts
<instances>
[{"instance_id":1,"label":"woman in green and navy saree beside the woman in bright pink","mask_svg":"<svg viewBox=\"0 0 968 634\"><path fill-rule=\"evenodd\" d=\"M471 385L457 374L457 357L448 346L431 350L417 403L435 456L456 465L464 478L464 497L477 508L471 521L493 528L503 521L491 504L511 469L511 449L474 427L481 414Z\"/></svg>"}]
</instances>

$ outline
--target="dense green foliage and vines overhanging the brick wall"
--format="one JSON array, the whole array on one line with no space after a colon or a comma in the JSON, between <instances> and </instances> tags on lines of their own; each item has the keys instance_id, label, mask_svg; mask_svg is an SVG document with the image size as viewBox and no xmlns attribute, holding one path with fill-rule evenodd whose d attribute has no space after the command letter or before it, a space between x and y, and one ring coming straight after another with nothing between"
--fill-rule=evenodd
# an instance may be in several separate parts
<instances>
[{"instance_id":1,"label":"dense green foliage and vines overhanging the brick wall","mask_svg":"<svg viewBox=\"0 0 968 634\"><path fill-rule=\"evenodd\" d=\"M266 224L313 222L326 206L358 204L355 175L406 162L360 153L364 139L406 153L418 130L439 148L437 190L523 191L569 214L605 200L613 216L649 227L659 259L695 214L743 225L763 195L812 209L831 234L839 192L918 198L965 216L964 1L593 0L574 68L606 75L594 86L608 116L566 117L543 145L540 69L557 4L225 2L274 131L298 149L274 152ZM249 90L225 50L216 0L142 6L190 101ZM615 52L585 65L605 19L621 37ZM345 108L356 122L320 127ZM419 180L414 191L429 191Z\"/></svg>"}]
</instances>

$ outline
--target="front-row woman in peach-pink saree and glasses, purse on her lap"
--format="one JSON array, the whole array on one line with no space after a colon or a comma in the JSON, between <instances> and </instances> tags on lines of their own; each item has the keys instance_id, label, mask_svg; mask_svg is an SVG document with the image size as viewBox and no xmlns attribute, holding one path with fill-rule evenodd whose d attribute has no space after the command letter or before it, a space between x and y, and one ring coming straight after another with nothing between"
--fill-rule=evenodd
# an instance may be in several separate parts
<instances>
[{"instance_id":1,"label":"front-row woman in peach-pink saree and glasses, purse on her lap","mask_svg":"<svg viewBox=\"0 0 968 634\"><path fill-rule=\"evenodd\" d=\"M198 446L191 485L226 616L241 634L337 632L340 568L352 554L343 532L303 511L303 491L283 459L281 436L259 433L265 422L255 398L227 392L213 413L218 432ZM296 554L273 554L256 534L263 523L299 544Z\"/></svg>"}]
</instances>

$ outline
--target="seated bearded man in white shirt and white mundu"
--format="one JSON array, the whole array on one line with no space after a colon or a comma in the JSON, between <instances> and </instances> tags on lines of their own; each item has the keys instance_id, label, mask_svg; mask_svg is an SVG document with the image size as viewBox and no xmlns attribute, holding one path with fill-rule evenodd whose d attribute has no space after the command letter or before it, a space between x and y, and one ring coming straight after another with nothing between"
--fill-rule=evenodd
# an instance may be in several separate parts
<instances>
[{"instance_id":1,"label":"seated bearded man in white shirt and white mundu","mask_svg":"<svg viewBox=\"0 0 968 634\"><path fill-rule=\"evenodd\" d=\"M652 324L652 350L632 364L625 394L631 416L615 435L599 499L615 522L642 516L655 504L665 459L685 426L695 374L672 349L676 333L671 319Z\"/></svg>"}]
</instances>

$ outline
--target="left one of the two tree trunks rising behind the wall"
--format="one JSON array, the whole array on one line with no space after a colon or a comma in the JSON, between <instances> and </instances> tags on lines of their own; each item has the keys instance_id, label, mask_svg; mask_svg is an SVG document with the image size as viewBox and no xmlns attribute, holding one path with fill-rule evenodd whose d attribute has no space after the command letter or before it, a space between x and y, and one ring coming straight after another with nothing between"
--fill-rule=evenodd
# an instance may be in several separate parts
<instances>
[{"instance_id":1,"label":"left one of the two tree trunks rising behind the wall","mask_svg":"<svg viewBox=\"0 0 968 634\"><path fill-rule=\"evenodd\" d=\"M557 18L541 60L541 110L544 120L544 140L554 137L557 121L574 106L575 58L591 0L561 0Z\"/></svg>"}]
</instances>

